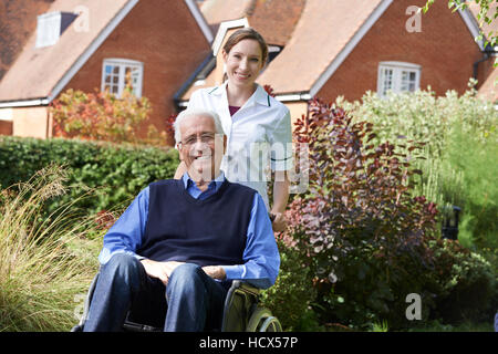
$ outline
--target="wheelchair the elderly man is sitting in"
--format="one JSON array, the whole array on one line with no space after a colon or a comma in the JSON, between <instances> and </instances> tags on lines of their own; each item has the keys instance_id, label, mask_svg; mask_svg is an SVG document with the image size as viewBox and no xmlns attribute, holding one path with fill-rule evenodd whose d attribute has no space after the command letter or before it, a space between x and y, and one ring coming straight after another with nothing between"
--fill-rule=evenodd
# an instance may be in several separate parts
<instances>
[{"instance_id":1,"label":"wheelchair the elderly man is sitting in","mask_svg":"<svg viewBox=\"0 0 498 354\"><path fill-rule=\"evenodd\" d=\"M83 315L71 332L82 332L85 325L98 273L93 279L83 308ZM224 305L221 332L282 332L279 320L259 303L260 290L247 282L235 280L228 290ZM162 327L131 321L127 314L123 324L125 332L163 332Z\"/></svg>"}]
</instances>

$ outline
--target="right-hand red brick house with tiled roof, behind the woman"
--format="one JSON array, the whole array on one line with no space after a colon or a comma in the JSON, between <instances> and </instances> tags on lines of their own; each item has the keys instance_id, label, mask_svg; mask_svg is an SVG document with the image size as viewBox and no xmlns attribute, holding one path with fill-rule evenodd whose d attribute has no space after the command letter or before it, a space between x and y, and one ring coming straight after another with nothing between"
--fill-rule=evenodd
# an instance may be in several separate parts
<instances>
[{"instance_id":1,"label":"right-hand red brick house with tiled roof, behind the woman","mask_svg":"<svg viewBox=\"0 0 498 354\"><path fill-rule=\"evenodd\" d=\"M483 94L489 94L497 76L496 53L474 40L478 25L473 8L452 13L447 1L436 1L426 14L417 15L413 6L423 7L425 0L243 0L231 8L222 7L226 2L205 0L200 6L217 31L215 59L177 93L180 106L196 88L220 83L219 48L231 31L245 25L260 31L276 52L258 82L272 86L293 118L307 112L313 96L355 101L366 91L385 95L387 90L427 86L437 95L448 90L461 94L473 76ZM487 97L498 98L494 93Z\"/></svg>"}]
</instances>

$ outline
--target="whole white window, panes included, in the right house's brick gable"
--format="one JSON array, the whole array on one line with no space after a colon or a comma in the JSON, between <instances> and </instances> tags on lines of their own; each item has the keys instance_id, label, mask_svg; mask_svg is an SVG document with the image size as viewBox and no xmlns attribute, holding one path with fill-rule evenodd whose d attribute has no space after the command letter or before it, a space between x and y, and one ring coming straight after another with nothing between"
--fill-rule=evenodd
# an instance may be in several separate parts
<instances>
[{"instance_id":1,"label":"whole white window, panes included, in the right house's brick gable","mask_svg":"<svg viewBox=\"0 0 498 354\"><path fill-rule=\"evenodd\" d=\"M377 93L385 97L394 93L414 92L421 85L421 65L402 62L381 62L378 65Z\"/></svg>"}]
</instances>

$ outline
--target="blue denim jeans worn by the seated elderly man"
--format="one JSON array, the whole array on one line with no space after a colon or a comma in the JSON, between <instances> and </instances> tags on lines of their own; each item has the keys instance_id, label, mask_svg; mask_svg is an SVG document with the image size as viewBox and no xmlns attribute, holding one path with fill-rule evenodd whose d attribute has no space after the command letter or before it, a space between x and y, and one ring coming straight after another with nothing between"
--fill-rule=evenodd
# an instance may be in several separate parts
<instances>
[{"instance_id":1,"label":"blue denim jeans worn by the seated elderly man","mask_svg":"<svg viewBox=\"0 0 498 354\"><path fill-rule=\"evenodd\" d=\"M178 266L165 287L136 258L117 253L101 268L83 331L122 331L128 312L129 321L166 332L218 330L227 290L193 263Z\"/></svg>"}]
</instances>

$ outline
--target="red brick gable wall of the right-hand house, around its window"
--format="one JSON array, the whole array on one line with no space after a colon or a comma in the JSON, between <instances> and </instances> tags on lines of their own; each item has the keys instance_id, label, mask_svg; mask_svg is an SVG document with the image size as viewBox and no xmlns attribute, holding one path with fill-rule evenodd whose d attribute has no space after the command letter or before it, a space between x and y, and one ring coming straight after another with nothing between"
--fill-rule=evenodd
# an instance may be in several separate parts
<instances>
[{"instance_id":1,"label":"red brick gable wall of the right-hand house, around its window","mask_svg":"<svg viewBox=\"0 0 498 354\"><path fill-rule=\"evenodd\" d=\"M405 14L406 9L425 2L393 1L317 96L334 101L343 95L353 101L367 90L376 91L382 61L422 65L423 90L430 85L437 95L450 88L463 93L473 76L473 63L481 58L479 48L461 17L448 10L447 1L436 1L422 14L422 32L408 33L405 23L411 15Z\"/></svg>"}]
</instances>

